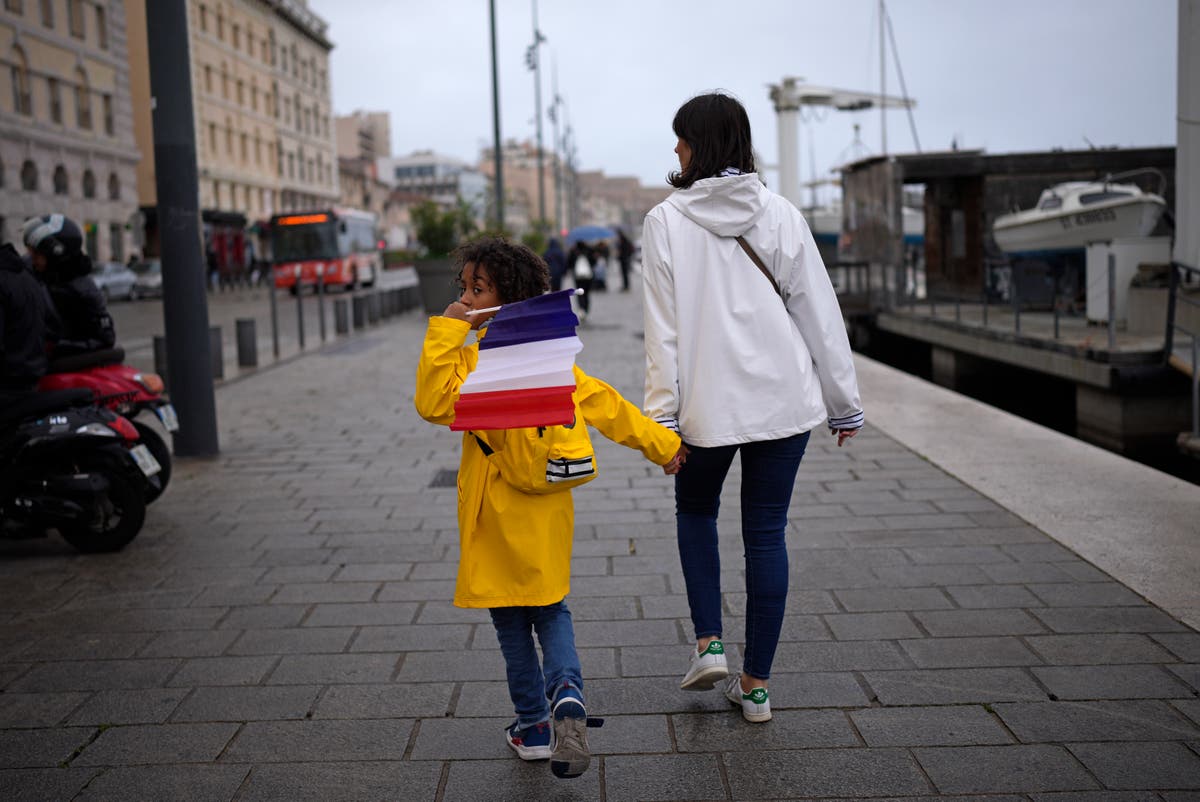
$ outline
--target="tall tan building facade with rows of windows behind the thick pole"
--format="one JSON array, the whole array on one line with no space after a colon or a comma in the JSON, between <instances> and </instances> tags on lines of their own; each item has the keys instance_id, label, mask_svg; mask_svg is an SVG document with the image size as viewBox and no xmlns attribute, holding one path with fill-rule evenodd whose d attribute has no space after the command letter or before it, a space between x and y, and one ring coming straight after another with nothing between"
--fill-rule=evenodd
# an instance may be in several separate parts
<instances>
[{"instance_id":1,"label":"tall tan building facade with rows of windows behind the thick pole","mask_svg":"<svg viewBox=\"0 0 1200 802\"><path fill-rule=\"evenodd\" d=\"M188 0L199 204L263 220L337 202L332 43L305 0ZM156 204L145 0L125 0L143 207ZM137 29L138 36L132 31Z\"/></svg>"}]
</instances>

